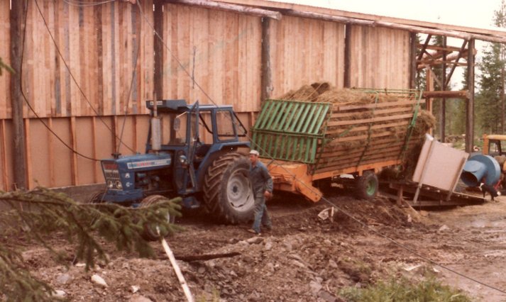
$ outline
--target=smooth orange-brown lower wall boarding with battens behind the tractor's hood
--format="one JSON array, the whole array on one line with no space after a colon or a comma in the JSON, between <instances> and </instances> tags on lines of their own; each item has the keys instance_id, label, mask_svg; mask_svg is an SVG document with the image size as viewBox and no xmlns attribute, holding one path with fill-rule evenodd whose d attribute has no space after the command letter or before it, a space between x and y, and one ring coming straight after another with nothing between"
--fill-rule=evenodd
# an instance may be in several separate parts
<instances>
[{"instance_id":1,"label":"smooth orange-brown lower wall boarding with battens behind the tractor's hood","mask_svg":"<svg viewBox=\"0 0 506 302\"><path fill-rule=\"evenodd\" d=\"M51 125L58 137L80 155L58 141L43 123ZM85 157L110 158L111 153L118 150L119 140L114 139L109 128L114 129L117 137L121 136L123 129L123 143L119 147L121 154L144 152L148 125L148 116L27 119L27 176L30 188L37 184L60 187L104 182L99 162Z\"/></svg>"}]
</instances>

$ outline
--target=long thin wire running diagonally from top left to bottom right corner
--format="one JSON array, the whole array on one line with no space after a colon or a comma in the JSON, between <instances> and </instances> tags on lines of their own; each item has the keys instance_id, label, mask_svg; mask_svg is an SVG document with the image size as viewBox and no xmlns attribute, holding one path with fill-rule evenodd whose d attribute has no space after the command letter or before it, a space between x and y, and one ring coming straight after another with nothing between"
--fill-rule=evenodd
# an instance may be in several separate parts
<instances>
[{"instance_id":1,"label":"long thin wire running diagonally from top left to bottom right corner","mask_svg":"<svg viewBox=\"0 0 506 302\"><path fill-rule=\"evenodd\" d=\"M202 91L202 93L207 96L207 98L209 99L209 101L211 101L212 104L214 104L215 106L218 106L216 104L216 102L214 102L214 100L211 98L211 96L209 96L209 94L207 94L206 91L204 91L204 89L202 88L202 86L199 85L199 83L197 81L195 81L194 77L192 77L192 75L187 71L187 69L185 68L184 65L182 65L182 62L180 62L180 60L178 60L178 58L172 53L172 51L170 50L170 48L167 46L167 44L165 43L165 40L163 40L163 38L160 36L160 34L155 30L155 28L153 27L153 25L148 21L148 18L145 16L145 14L143 13L143 10L141 8L141 4L140 4L140 1L141 0L137 0L137 5L139 7L139 11L141 11L141 15L143 16L144 20L146 21L146 23L148 23L148 25L150 26L150 28L153 29L153 32L155 33L155 35L158 37L158 39L160 39L160 41L162 42L162 44L164 45L165 49L170 53L170 55L172 56L172 58L174 58L174 60L177 62L178 65L180 65L181 69L188 75L188 77L190 79L192 79L192 81L194 81L195 85ZM251 137L249 135L246 134L246 137L251 140ZM260 146L259 146L260 147ZM263 151L265 154L267 154L267 152L265 152L265 150L263 150L263 148L260 147L260 151ZM297 177L295 177L295 174L292 174L292 172L288 171L285 167L282 166L282 164L279 164L277 162L277 160L275 160L274 157L272 157L271 155L267 154L268 157L270 158L270 160L272 162L275 162L278 166L282 167L282 169L285 170L285 172L287 172L287 174L290 174L292 177L294 177L294 179L296 181L299 181L302 185L306 186L307 189L309 189L310 191L312 191L313 193L316 193L314 192L314 190L309 187L307 184L305 184L303 181L300 181L299 179L297 179ZM441 264L439 262L436 262L432 259L429 259L428 257L425 257L421 254L419 254L416 250L413 250L411 247L407 247L406 245L402 245L400 242L397 242L396 240L388 237L387 235L384 235L382 233L380 233L378 230L375 230L374 228L371 228L370 225L367 225L365 223L363 223L361 220L359 220L358 218L355 218L353 215L351 215L351 213L348 213L347 211L343 210L343 208L337 206L335 203L329 201L329 199L325 198L324 196L321 197L321 200L322 201L325 201L326 203L328 203L329 205L333 206L334 208L336 208L338 211L341 211L344 215L348 216L349 218L351 218L352 220L356 221L357 223L359 223L360 225L362 225L364 228L366 228L367 230L370 230L370 232L372 233L375 233L376 235L380 236L380 237L383 237L385 240L388 240L390 242L392 242L394 245L397 245L397 247L401 247L402 249L404 250L407 250L408 252L411 252L413 255L419 257L420 259L423 259L431 264L434 264L438 267L441 267L442 269L446 269L447 271L449 272L452 272L453 274L457 274L458 276L461 276L463 278L466 278L470 281L473 281L475 283L478 283L480 285L483 285L483 286L486 286L488 287L489 289L493 289L495 291L499 291L500 293L506 293L506 291L503 291L502 289L498 289L497 287L495 286L492 286L492 285L489 285L489 284L485 284L484 282L482 281L479 281L477 279L473 279L472 277L470 276L467 276L466 274L462 274L460 272L457 272L456 270L454 269L451 269L449 267L446 267L444 264Z\"/></svg>"}]
</instances>

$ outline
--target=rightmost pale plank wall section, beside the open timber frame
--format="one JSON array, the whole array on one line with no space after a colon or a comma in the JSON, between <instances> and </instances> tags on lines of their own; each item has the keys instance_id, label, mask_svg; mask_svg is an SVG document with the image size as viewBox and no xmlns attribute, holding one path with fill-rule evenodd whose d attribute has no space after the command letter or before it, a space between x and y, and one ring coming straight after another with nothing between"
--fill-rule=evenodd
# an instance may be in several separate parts
<instances>
[{"instance_id":1,"label":"rightmost pale plank wall section, beside the open timber frame","mask_svg":"<svg viewBox=\"0 0 506 302\"><path fill-rule=\"evenodd\" d=\"M351 86L409 88L409 32L351 26Z\"/></svg>"}]
</instances>

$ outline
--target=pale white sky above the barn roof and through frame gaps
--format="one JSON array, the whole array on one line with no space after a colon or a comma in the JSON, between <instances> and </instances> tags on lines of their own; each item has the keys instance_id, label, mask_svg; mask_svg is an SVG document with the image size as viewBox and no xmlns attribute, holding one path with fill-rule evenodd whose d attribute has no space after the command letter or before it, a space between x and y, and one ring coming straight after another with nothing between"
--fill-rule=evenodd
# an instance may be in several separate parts
<instances>
[{"instance_id":1,"label":"pale white sky above the barn roof and through frame gaps","mask_svg":"<svg viewBox=\"0 0 506 302\"><path fill-rule=\"evenodd\" d=\"M444 23L456 26L468 26L472 28L490 28L494 11L500 8L502 0L270 0L289 2L309 6L321 6L341 11L353 11L356 13L368 13L379 16L405 18L410 20ZM417 6L418 4L418 6ZM504 30L504 29L503 29ZM506 35L506 32L505 32ZM462 40L448 39L448 45L460 47ZM476 60L480 60L480 54L487 43L476 40L475 47L478 50ZM462 81L462 69L458 67L452 77L452 89L460 89ZM479 70L476 70L479 74Z\"/></svg>"}]
</instances>

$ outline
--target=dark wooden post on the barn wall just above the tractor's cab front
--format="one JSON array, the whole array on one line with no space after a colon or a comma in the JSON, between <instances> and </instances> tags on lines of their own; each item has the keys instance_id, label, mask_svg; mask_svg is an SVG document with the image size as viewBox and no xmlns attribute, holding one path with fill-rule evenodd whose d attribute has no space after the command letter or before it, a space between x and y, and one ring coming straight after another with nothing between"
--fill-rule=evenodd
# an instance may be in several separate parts
<instances>
[{"instance_id":1,"label":"dark wooden post on the barn wall just above the tractor's cab front","mask_svg":"<svg viewBox=\"0 0 506 302\"><path fill-rule=\"evenodd\" d=\"M163 1L155 0L154 27L156 32L163 37ZM139 37L140 39L141 37ZM155 36L155 92L158 98L163 99L163 52L162 41Z\"/></svg>"}]
</instances>

